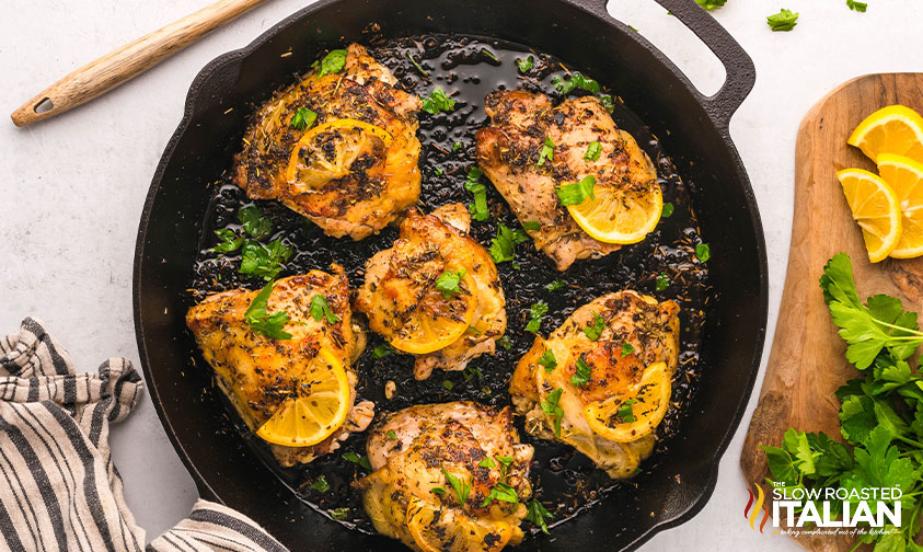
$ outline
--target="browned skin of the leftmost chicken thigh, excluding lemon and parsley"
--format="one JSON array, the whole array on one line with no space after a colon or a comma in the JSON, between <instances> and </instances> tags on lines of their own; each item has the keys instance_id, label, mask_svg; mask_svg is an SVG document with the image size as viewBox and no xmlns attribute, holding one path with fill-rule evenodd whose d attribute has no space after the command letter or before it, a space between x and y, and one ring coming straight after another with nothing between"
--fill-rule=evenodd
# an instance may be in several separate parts
<instances>
[{"instance_id":1,"label":"browned skin of the leftmost chicken thigh, excluding lemon and parsley","mask_svg":"<svg viewBox=\"0 0 923 552\"><path fill-rule=\"evenodd\" d=\"M365 347L365 334L353 325L349 286L343 268L333 274L312 271L276 281L267 312L285 311L285 331L291 340L273 340L253 331L244 313L258 291L235 289L208 296L186 313L186 325L195 335L205 360L215 370L216 381L251 430L256 430L296 392L299 375L321 347L343 361L350 388L350 410L346 422L333 435L311 447L269 445L284 467L307 463L339 448L351 432L365 430L374 415L369 401L355 404L356 375L349 368ZM311 298L323 295L339 322L314 320Z\"/></svg>"}]
</instances>

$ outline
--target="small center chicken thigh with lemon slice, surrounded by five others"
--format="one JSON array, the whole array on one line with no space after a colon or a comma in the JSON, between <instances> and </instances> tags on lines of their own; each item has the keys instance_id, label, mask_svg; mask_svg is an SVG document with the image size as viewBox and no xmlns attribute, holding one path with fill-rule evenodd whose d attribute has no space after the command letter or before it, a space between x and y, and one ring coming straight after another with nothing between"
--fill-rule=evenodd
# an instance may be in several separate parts
<instances>
[{"instance_id":1,"label":"small center chicken thigh with lemon slice, surrounded by five others","mask_svg":"<svg viewBox=\"0 0 923 552\"><path fill-rule=\"evenodd\" d=\"M471 237L461 204L431 215L411 209L394 246L366 263L356 310L372 330L402 352L415 354L416 379L434 368L462 370L494 354L506 331L506 299L497 267Z\"/></svg>"}]
</instances>

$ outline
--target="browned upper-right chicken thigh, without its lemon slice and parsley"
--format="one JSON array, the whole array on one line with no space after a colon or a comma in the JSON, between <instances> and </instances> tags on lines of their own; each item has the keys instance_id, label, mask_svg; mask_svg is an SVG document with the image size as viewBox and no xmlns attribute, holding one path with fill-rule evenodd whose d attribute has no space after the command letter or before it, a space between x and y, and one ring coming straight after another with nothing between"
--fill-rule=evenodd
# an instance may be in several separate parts
<instances>
[{"instance_id":1,"label":"browned upper-right chicken thigh, without its lemon slice and parsley","mask_svg":"<svg viewBox=\"0 0 923 552\"><path fill-rule=\"evenodd\" d=\"M491 126L477 130L477 164L504 196L535 248L565 271L578 258L599 257L620 245L590 238L561 205L555 186L596 176L597 186L646 189L657 186L650 159L635 139L620 130L592 96L569 99L552 106L544 94L521 90L487 94ZM539 165L545 138L554 141L551 161ZM598 141L599 159L585 160Z\"/></svg>"}]
</instances>

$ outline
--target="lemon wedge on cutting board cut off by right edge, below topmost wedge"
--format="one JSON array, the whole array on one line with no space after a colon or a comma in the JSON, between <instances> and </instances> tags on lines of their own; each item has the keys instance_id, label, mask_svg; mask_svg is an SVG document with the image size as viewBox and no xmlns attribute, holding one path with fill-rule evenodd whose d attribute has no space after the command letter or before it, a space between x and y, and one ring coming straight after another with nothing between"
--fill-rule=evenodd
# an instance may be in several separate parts
<instances>
[{"instance_id":1,"label":"lemon wedge on cutting board cut off by right edge, below topmost wedge","mask_svg":"<svg viewBox=\"0 0 923 552\"><path fill-rule=\"evenodd\" d=\"M901 208L901 237L890 255L923 255L923 163L903 156L880 153L878 175L891 186Z\"/></svg>"}]
</instances>

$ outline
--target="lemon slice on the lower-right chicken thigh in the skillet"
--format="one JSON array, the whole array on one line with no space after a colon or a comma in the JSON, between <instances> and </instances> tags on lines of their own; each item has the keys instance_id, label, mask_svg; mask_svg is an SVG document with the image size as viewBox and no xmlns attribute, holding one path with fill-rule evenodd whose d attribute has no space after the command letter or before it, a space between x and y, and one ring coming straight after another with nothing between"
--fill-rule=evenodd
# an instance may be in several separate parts
<instances>
[{"instance_id":1,"label":"lemon slice on the lower-right chicken thigh in the skillet","mask_svg":"<svg viewBox=\"0 0 923 552\"><path fill-rule=\"evenodd\" d=\"M600 437L615 442L630 442L654 433L670 405L670 377L667 365L647 367L633 396L610 396L584 409L590 428ZM628 401L634 400L631 404ZM631 407L631 415L623 407Z\"/></svg>"}]
</instances>

